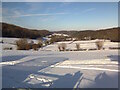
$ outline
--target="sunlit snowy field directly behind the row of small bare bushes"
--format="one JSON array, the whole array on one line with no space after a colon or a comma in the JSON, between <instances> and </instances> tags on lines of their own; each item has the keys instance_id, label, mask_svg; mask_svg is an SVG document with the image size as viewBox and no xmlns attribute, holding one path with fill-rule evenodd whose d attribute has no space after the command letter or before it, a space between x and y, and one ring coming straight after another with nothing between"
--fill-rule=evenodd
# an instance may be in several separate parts
<instances>
[{"instance_id":1,"label":"sunlit snowy field directly behind the row of small bare bushes","mask_svg":"<svg viewBox=\"0 0 120 90\"><path fill-rule=\"evenodd\" d=\"M58 44L60 43L66 43L67 48L70 50L75 50L76 49L76 43L80 44L81 49L96 49L96 42L97 40L90 40L90 41L63 41L63 42L57 42L55 44L48 45L47 47L43 48L43 50L51 50L51 51L58 51ZM117 42L110 42L110 41L105 41L103 48L109 49L109 48L117 48L119 47L119 43Z\"/></svg>"}]
</instances>

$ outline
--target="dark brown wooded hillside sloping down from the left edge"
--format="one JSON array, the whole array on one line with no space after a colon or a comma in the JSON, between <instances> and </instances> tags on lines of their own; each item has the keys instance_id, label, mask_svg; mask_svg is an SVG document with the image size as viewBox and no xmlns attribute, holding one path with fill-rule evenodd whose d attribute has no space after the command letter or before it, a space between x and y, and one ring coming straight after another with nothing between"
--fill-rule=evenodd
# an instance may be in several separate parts
<instances>
[{"instance_id":1,"label":"dark brown wooded hillside sloping down from the left edge","mask_svg":"<svg viewBox=\"0 0 120 90\"><path fill-rule=\"evenodd\" d=\"M36 39L51 34L48 30L27 29L13 24L2 23L2 37Z\"/></svg>"}]
</instances>

